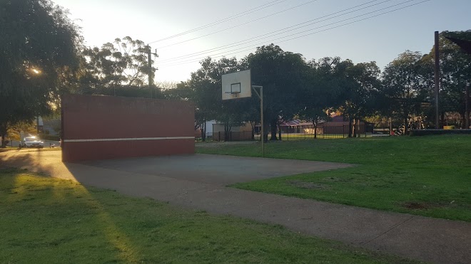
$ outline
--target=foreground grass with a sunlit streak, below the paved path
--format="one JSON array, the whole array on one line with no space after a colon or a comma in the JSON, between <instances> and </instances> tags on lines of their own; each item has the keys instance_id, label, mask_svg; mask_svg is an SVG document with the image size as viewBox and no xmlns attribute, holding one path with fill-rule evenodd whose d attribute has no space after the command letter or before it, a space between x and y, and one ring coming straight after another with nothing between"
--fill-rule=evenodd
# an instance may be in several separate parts
<instances>
[{"instance_id":1,"label":"foreground grass with a sunlit streak, below the paved path","mask_svg":"<svg viewBox=\"0 0 471 264\"><path fill-rule=\"evenodd\" d=\"M0 169L0 263L403 263L281 226Z\"/></svg>"}]
</instances>

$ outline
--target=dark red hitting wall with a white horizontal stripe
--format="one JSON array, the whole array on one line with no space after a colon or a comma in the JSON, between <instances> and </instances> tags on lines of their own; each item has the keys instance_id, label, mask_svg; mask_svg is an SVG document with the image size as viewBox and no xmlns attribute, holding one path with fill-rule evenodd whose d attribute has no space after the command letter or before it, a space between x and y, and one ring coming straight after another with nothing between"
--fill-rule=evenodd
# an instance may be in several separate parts
<instances>
[{"instance_id":1,"label":"dark red hitting wall with a white horizontal stripe","mask_svg":"<svg viewBox=\"0 0 471 264\"><path fill-rule=\"evenodd\" d=\"M61 103L64 162L195 152L191 102L64 95Z\"/></svg>"}]
</instances>

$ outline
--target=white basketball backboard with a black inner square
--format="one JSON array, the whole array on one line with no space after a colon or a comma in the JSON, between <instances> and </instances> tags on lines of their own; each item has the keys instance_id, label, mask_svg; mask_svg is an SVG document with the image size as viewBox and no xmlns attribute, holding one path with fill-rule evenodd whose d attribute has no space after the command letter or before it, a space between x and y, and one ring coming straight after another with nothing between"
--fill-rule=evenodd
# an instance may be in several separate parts
<instances>
[{"instance_id":1,"label":"white basketball backboard with a black inner square","mask_svg":"<svg viewBox=\"0 0 471 264\"><path fill-rule=\"evenodd\" d=\"M238 71L223 75L223 100L252 96L250 70Z\"/></svg>"}]
</instances>

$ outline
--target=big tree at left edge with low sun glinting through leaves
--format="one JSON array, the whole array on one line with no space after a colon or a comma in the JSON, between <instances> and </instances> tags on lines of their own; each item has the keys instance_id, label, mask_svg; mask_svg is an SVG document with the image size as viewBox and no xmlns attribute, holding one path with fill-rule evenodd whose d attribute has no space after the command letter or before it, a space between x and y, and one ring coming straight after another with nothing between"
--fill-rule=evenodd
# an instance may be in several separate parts
<instances>
[{"instance_id":1,"label":"big tree at left edge with low sun glinting through leaves","mask_svg":"<svg viewBox=\"0 0 471 264\"><path fill-rule=\"evenodd\" d=\"M82 38L66 11L49 0L0 4L0 134L51 111L78 66Z\"/></svg>"}]
</instances>

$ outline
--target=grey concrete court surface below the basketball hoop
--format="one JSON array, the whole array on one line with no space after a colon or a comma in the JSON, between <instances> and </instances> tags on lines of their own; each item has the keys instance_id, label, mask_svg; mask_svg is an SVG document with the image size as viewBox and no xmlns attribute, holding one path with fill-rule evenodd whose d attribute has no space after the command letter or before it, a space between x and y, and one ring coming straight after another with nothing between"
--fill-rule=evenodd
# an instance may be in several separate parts
<instances>
[{"instance_id":1,"label":"grey concrete court surface below the basketball hoop","mask_svg":"<svg viewBox=\"0 0 471 264\"><path fill-rule=\"evenodd\" d=\"M82 164L138 174L166 176L173 179L218 184L219 186L226 186L243 181L354 166L353 164L335 162L263 159L210 154L109 159L83 162Z\"/></svg>"}]
</instances>

